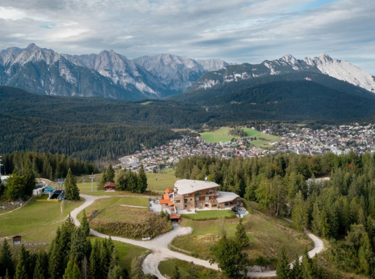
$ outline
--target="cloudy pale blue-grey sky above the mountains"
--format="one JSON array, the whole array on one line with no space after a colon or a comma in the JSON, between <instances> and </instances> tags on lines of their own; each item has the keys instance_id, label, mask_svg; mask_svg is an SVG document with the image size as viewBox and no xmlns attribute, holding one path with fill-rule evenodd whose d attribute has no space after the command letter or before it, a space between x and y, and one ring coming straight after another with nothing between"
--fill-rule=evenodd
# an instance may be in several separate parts
<instances>
[{"instance_id":1,"label":"cloudy pale blue-grey sky above the mountains","mask_svg":"<svg viewBox=\"0 0 375 279\"><path fill-rule=\"evenodd\" d=\"M375 0L1 0L0 49L260 63L328 53L375 76Z\"/></svg>"}]
</instances>

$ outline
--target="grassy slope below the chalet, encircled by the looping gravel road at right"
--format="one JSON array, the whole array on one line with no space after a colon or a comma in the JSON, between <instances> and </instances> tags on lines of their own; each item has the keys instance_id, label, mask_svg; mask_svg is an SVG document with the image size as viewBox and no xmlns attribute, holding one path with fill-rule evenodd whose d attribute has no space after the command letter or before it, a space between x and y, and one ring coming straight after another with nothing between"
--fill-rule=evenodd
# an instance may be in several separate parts
<instances>
[{"instance_id":1,"label":"grassy slope below the chalet, encircled by the looping gravel road at right","mask_svg":"<svg viewBox=\"0 0 375 279\"><path fill-rule=\"evenodd\" d=\"M289 259L292 259L296 253L301 255L305 246L308 249L313 246L310 238L291 229L291 225L286 221L258 212L246 215L243 220L250 242L244 250L249 255L249 265L255 265L256 258L263 256L275 268L275 259L282 246L285 246ZM219 220L192 221L183 219L180 226L192 227L193 233L176 237L172 244L181 249L197 253L199 258L207 260L210 258L210 247L219 240L217 237L218 222ZM229 238L234 238L237 224L237 218L226 219L225 227Z\"/></svg>"}]
</instances>

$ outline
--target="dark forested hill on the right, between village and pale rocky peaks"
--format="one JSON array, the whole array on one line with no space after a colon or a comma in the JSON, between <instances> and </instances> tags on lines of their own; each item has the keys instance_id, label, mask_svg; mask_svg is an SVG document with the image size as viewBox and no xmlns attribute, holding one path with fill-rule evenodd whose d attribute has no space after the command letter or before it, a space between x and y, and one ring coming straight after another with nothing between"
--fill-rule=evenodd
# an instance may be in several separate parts
<instances>
[{"instance_id":1,"label":"dark forested hill on the right, between village and pale rocky peaks","mask_svg":"<svg viewBox=\"0 0 375 279\"><path fill-rule=\"evenodd\" d=\"M281 81L242 89L204 101L221 117L273 120L352 121L375 114L375 96L330 89L312 81Z\"/></svg>"}]
</instances>

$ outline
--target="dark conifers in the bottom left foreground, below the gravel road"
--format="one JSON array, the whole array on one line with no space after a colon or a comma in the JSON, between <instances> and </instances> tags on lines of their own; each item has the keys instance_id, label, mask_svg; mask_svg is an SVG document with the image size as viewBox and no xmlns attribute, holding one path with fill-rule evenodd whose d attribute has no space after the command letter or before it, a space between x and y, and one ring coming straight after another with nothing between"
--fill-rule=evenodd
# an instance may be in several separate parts
<instances>
[{"instance_id":1,"label":"dark conifers in the bottom left foreground, below the gravel road","mask_svg":"<svg viewBox=\"0 0 375 279\"><path fill-rule=\"evenodd\" d=\"M118 251L111 238L91 241L85 211L80 227L69 215L58 228L51 246L31 253L21 246L13 253L4 240L0 251L0 278L3 279L157 279L144 275L141 261L133 259L131 270L120 267Z\"/></svg>"}]
</instances>

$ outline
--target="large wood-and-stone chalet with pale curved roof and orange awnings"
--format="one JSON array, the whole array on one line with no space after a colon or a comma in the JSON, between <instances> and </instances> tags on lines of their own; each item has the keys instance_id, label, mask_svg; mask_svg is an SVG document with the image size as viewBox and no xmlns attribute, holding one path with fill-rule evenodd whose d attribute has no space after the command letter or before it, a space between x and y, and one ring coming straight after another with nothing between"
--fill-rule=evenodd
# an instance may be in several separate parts
<instances>
[{"instance_id":1,"label":"large wood-and-stone chalet with pale curved roof and orange awnings","mask_svg":"<svg viewBox=\"0 0 375 279\"><path fill-rule=\"evenodd\" d=\"M172 214L187 209L232 209L239 205L237 194L218 191L218 187L215 182L182 179L173 190L165 190L159 203L168 205Z\"/></svg>"}]
</instances>

